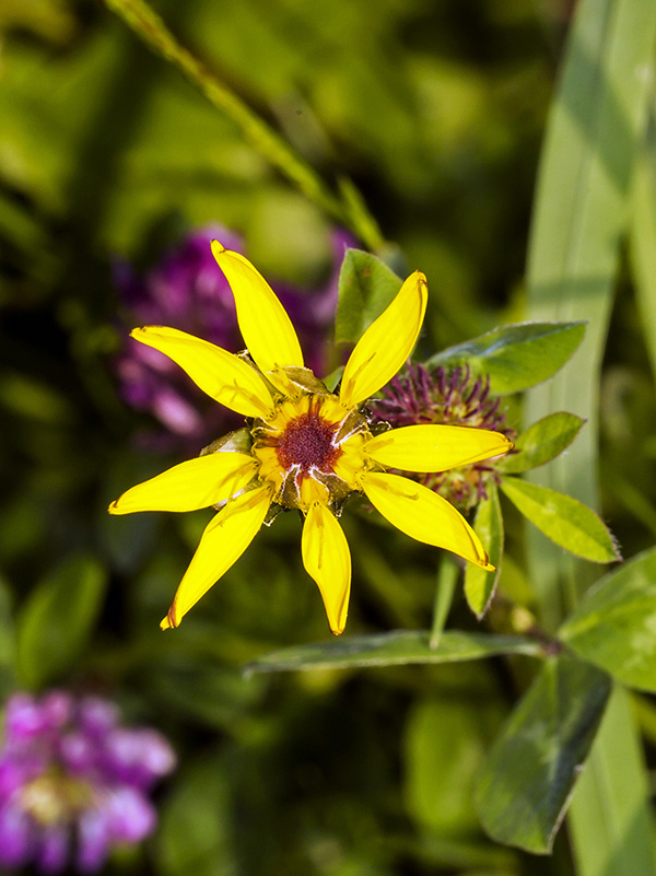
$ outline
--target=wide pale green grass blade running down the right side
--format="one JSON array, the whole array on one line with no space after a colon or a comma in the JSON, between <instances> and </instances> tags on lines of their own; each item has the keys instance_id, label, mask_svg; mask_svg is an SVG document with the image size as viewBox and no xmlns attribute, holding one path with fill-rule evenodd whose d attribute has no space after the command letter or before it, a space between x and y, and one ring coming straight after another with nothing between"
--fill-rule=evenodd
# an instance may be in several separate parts
<instances>
[{"instance_id":1,"label":"wide pale green grass blade running down the right side","mask_svg":"<svg viewBox=\"0 0 656 876\"><path fill-rule=\"evenodd\" d=\"M531 390L528 422L571 410L588 424L569 454L531 479L598 506L601 357L626 230L635 144L643 128L656 7L582 0L541 157L528 264L529 318L588 319L586 337L555 377ZM551 629L596 570L563 558L540 536L528 556ZM653 876L644 764L631 713L616 691L570 809L579 876Z\"/></svg>"}]
</instances>

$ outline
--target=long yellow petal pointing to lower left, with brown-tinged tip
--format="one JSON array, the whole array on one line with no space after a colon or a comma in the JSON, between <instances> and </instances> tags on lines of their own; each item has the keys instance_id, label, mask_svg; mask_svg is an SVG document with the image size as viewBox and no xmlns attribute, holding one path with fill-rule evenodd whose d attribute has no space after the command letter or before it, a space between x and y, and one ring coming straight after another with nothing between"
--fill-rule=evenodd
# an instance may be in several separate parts
<instances>
[{"instance_id":1,"label":"long yellow petal pointing to lower left, with brown-tinged tip","mask_svg":"<svg viewBox=\"0 0 656 876\"><path fill-rule=\"evenodd\" d=\"M209 523L180 582L168 615L160 627L177 627L212 584L244 553L257 535L271 502L268 487L233 499Z\"/></svg>"}]
</instances>

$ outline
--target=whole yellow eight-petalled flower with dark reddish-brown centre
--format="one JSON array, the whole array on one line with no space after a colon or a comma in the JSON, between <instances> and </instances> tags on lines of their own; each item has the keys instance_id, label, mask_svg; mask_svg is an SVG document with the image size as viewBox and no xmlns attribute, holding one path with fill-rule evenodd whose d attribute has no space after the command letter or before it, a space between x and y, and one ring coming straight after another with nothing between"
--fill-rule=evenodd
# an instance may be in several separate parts
<instances>
[{"instance_id":1,"label":"whole yellow eight-petalled flower with dark reddish-brown centre","mask_svg":"<svg viewBox=\"0 0 656 876\"><path fill-rule=\"evenodd\" d=\"M478 536L453 505L386 469L445 471L504 454L512 443L497 432L455 425L409 425L374 435L360 412L414 347L427 301L424 275L414 271L364 332L333 394L303 366L294 327L261 275L216 241L212 252L235 296L248 353L229 353L175 328L132 331L136 340L173 359L204 393L249 420L248 433L214 442L197 459L132 487L109 505L110 514L219 509L162 629L177 627L238 560L272 505L298 509L305 517L303 564L319 587L336 635L344 629L351 589L351 554L336 515L353 492L364 493L411 538L491 570Z\"/></svg>"}]
</instances>

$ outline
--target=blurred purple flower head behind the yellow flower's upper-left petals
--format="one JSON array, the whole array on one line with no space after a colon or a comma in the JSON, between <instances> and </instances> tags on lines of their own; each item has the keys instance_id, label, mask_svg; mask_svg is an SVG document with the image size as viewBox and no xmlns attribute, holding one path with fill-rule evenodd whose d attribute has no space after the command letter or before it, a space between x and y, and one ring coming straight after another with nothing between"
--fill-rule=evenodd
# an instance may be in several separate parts
<instances>
[{"instance_id":1,"label":"blurred purple flower head behind the yellow flower's upper-left petals","mask_svg":"<svg viewBox=\"0 0 656 876\"><path fill-rule=\"evenodd\" d=\"M134 325L172 325L219 347L237 352L243 347L235 304L227 280L210 248L212 238L244 253L239 238L210 225L191 232L162 260L137 273L117 261L114 283ZM347 246L354 241L343 231L332 235L332 270L320 289L301 290L277 284L274 291L298 330L308 367L325 372L328 338L337 307L339 269ZM165 451L192 449L241 424L237 414L212 404L167 357L131 339L115 361L120 394L131 407L147 411L163 429L149 436Z\"/></svg>"}]
</instances>

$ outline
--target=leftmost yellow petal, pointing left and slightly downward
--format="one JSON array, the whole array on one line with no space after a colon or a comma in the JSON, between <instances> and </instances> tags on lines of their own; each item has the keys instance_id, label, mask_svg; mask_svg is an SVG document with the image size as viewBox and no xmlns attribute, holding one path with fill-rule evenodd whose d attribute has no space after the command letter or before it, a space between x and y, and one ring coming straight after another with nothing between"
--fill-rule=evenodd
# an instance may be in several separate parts
<instances>
[{"instance_id":1,"label":"leftmost yellow petal, pointing left and slightly downward","mask_svg":"<svg viewBox=\"0 0 656 876\"><path fill-rule=\"evenodd\" d=\"M109 514L134 511L196 511L243 490L257 470L245 453L211 453L138 483L109 505Z\"/></svg>"}]
</instances>

